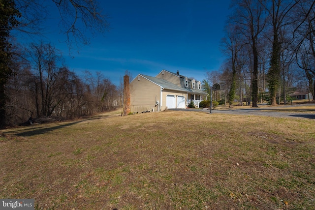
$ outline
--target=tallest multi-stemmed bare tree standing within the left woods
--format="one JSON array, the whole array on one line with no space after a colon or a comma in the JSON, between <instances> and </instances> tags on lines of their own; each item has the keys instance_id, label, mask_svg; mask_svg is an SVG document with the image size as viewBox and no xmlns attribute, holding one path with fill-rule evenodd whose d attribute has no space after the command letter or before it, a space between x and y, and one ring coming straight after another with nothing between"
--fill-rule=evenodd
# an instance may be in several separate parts
<instances>
[{"instance_id":1,"label":"tallest multi-stemmed bare tree standing within the left woods","mask_svg":"<svg viewBox=\"0 0 315 210\"><path fill-rule=\"evenodd\" d=\"M34 73L32 92L37 117L50 117L66 95L64 90L68 69L51 44L32 44L29 51Z\"/></svg>"}]
</instances>

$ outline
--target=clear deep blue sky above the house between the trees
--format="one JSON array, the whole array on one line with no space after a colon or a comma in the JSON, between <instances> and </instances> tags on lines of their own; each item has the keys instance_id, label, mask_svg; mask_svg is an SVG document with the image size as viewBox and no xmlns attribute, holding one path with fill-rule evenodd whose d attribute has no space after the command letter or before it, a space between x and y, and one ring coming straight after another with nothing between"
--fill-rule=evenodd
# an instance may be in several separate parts
<instances>
[{"instance_id":1,"label":"clear deep blue sky above the house between the trees","mask_svg":"<svg viewBox=\"0 0 315 210\"><path fill-rule=\"evenodd\" d=\"M81 75L100 71L119 85L126 70L156 76L162 69L202 81L205 71L219 70L223 27L230 0L100 1L110 31L71 52L51 18L44 40L63 52L66 65ZM54 17L54 16L51 16Z\"/></svg>"}]
</instances>

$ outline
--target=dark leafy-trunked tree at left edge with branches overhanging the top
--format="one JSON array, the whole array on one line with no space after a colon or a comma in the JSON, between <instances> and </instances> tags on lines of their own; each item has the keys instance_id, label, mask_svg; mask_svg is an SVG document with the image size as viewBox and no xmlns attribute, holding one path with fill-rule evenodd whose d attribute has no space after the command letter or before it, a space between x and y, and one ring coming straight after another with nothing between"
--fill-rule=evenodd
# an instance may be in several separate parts
<instances>
[{"instance_id":1,"label":"dark leafy-trunked tree at left edge with branches overhanging the top","mask_svg":"<svg viewBox=\"0 0 315 210\"><path fill-rule=\"evenodd\" d=\"M4 0L0 3L0 126L5 121L5 86L13 76L9 66L12 59L10 37L14 32L30 36L43 32L42 23L49 16L49 4L58 8L61 32L66 34L69 49L89 43L87 32L103 34L109 29L107 17L95 0ZM5 61L5 62L4 62Z\"/></svg>"}]
</instances>

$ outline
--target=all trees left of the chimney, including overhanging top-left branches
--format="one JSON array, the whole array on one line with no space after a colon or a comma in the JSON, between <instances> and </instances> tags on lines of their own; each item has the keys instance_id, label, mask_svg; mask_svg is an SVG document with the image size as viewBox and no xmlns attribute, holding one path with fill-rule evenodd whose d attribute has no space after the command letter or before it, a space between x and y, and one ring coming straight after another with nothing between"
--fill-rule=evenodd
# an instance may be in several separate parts
<instances>
[{"instance_id":1,"label":"all trees left of the chimney, including overhanging top-left branches","mask_svg":"<svg viewBox=\"0 0 315 210\"><path fill-rule=\"evenodd\" d=\"M95 0L0 0L0 127L29 118L77 118L112 110L121 93L101 73L78 76L50 43L19 45L16 34L42 31L50 6L60 14L60 30L69 51L89 43L89 34L109 24Z\"/></svg>"}]
</instances>

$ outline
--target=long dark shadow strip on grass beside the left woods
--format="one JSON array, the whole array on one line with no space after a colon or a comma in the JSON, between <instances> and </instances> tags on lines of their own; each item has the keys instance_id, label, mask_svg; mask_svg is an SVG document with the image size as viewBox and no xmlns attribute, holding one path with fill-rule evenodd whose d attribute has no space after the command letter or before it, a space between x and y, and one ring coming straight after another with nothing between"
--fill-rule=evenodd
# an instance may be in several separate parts
<instances>
[{"instance_id":1,"label":"long dark shadow strip on grass beside the left woods","mask_svg":"<svg viewBox=\"0 0 315 210\"><path fill-rule=\"evenodd\" d=\"M97 120L99 118L93 118L93 119L87 119L87 120ZM79 122L83 122L83 121L87 121L87 120L79 120L79 121L73 121L73 122L69 122L69 123L65 123L65 124L62 124L62 125L57 125L57 126L53 126L53 127L37 127L37 128L33 128L33 127L30 127L29 129L26 130L23 130L23 132L16 132L16 131L12 131L12 132L4 132L5 134L14 134L16 136L23 136L23 137L28 137L28 136L33 136L33 135L39 135L39 134L44 134L44 133L48 133L48 132L51 132L51 131L54 131L54 130L57 130L57 129L61 129L61 128L64 128L64 127L67 127L67 126L71 126L71 125L74 125L74 124L77 124Z\"/></svg>"}]
</instances>

